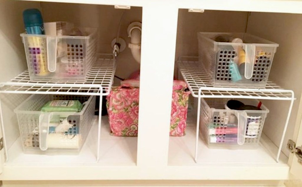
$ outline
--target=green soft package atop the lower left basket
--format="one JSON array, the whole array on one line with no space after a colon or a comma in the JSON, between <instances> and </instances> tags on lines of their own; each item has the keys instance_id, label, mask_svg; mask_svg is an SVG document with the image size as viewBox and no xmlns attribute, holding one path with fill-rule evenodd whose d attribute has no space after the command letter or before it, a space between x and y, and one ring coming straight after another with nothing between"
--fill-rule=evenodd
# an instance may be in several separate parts
<instances>
[{"instance_id":1,"label":"green soft package atop the lower left basket","mask_svg":"<svg viewBox=\"0 0 302 187\"><path fill-rule=\"evenodd\" d=\"M80 112L80 101L55 100L48 101L41 109L42 112Z\"/></svg>"}]
</instances>

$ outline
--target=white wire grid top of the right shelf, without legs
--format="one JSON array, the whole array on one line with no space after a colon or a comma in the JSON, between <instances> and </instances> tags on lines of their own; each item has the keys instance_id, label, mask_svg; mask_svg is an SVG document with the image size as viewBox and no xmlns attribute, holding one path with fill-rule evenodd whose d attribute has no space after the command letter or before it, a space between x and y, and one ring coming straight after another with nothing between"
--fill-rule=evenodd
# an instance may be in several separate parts
<instances>
[{"instance_id":1,"label":"white wire grid top of the right shelf, without legs","mask_svg":"<svg viewBox=\"0 0 302 187\"><path fill-rule=\"evenodd\" d=\"M202 98L258 98L273 100L291 100L290 91L285 91L275 83L268 81L265 89L254 86L213 86L205 73L201 72L198 57L181 57L178 60L178 69L185 79L193 97L198 98L201 89ZM278 92L280 90L280 92Z\"/></svg>"}]
</instances>

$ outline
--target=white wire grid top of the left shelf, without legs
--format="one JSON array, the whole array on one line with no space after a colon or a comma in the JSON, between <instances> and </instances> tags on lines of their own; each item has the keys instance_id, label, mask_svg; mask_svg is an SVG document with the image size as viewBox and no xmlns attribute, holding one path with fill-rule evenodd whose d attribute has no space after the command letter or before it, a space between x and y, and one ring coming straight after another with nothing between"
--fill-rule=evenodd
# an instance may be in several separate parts
<instances>
[{"instance_id":1,"label":"white wire grid top of the left shelf, without legs","mask_svg":"<svg viewBox=\"0 0 302 187\"><path fill-rule=\"evenodd\" d=\"M0 93L108 95L113 83L116 61L112 55L107 56L109 58L98 58L87 73L86 81L31 81L26 70L11 81L1 83ZM102 91L100 87L103 88Z\"/></svg>"}]
</instances>

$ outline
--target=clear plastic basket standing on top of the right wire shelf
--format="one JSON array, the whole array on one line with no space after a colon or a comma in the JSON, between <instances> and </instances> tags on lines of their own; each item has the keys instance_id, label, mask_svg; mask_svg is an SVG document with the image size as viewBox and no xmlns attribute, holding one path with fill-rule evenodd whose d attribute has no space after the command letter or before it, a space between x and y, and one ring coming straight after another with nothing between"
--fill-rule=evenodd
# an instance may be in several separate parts
<instances>
[{"instance_id":1,"label":"clear plastic basket standing on top of the right wire shelf","mask_svg":"<svg viewBox=\"0 0 302 187\"><path fill-rule=\"evenodd\" d=\"M278 46L247 33L198 33L200 67L214 86L265 87Z\"/></svg>"}]
</instances>

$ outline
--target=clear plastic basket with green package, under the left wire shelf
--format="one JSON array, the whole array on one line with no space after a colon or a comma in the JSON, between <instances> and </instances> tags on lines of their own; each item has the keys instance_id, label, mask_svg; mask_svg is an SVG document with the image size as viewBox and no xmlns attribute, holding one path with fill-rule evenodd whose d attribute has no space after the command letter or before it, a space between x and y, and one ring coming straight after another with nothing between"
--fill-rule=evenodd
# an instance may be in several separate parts
<instances>
[{"instance_id":1,"label":"clear plastic basket with green package, under the left wire shelf","mask_svg":"<svg viewBox=\"0 0 302 187\"><path fill-rule=\"evenodd\" d=\"M80 112L42 112L41 108L53 100L78 100L83 104L83 108ZM95 96L31 95L14 112L18 117L25 153L40 154L49 151L79 153L92 126ZM68 123L68 130L53 132L52 128L61 123Z\"/></svg>"}]
</instances>

